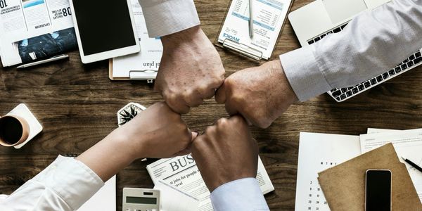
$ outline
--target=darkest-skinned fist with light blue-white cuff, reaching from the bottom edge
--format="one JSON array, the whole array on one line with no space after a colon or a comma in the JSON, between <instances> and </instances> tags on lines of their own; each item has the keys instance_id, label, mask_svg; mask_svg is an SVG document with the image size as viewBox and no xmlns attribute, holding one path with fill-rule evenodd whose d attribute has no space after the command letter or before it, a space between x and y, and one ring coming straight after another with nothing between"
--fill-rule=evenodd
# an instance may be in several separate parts
<instances>
[{"instance_id":1,"label":"darkest-skinned fist with light blue-white cuff, reaching from the bottom edge","mask_svg":"<svg viewBox=\"0 0 422 211\"><path fill-rule=\"evenodd\" d=\"M218 120L193 140L191 151L214 210L269 210L256 179L257 143L243 117Z\"/></svg>"}]
</instances>

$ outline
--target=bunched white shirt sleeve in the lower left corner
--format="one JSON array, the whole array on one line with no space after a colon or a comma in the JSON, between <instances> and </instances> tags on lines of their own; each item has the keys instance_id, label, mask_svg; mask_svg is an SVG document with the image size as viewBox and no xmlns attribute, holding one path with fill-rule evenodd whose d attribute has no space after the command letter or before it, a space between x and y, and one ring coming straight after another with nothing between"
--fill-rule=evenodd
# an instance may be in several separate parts
<instances>
[{"instance_id":1,"label":"bunched white shirt sleeve in the lower left corner","mask_svg":"<svg viewBox=\"0 0 422 211\"><path fill-rule=\"evenodd\" d=\"M0 210L79 209L104 185L84 163L74 158L58 158L45 170L0 201Z\"/></svg>"}]
</instances>

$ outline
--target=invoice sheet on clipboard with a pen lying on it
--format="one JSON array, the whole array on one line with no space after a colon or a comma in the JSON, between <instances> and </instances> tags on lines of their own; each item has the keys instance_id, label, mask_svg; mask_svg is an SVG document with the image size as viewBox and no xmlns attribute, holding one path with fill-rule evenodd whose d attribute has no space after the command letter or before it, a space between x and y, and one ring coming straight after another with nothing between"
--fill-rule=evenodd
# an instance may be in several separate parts
<instances>
[{"instance_id":1,"label":"invoice sheet on clipboard with a pen lying on it","mask_svg":"<svg viewBox=\"0 0 422 211\"><path fill-rule=\"evenodd\" d=\"M252 38L249 34L249 2L231 1L215 44L254 60L268 60L279 39L292 1L252 0Z\"/></svg>"}]
</instances>

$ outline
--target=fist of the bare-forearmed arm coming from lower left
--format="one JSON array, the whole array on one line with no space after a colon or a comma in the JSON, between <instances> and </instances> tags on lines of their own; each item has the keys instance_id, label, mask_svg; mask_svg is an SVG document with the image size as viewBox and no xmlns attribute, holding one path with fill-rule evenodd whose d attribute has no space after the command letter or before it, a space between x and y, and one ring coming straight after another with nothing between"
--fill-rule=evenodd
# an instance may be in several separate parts
<instances>
[{"instance_id":1,"label":"fist of the bare-forearmed arm coming from lower left","mask_svg":"<svg viewBox=\"0 0 422 211\"><path fill-rule=\"evenodd\" d=\"M155 103L113 132L132 143L127 153L134 158L172 158L187 150L196 134L166 103Z\"/></svg>"}]
</instances>

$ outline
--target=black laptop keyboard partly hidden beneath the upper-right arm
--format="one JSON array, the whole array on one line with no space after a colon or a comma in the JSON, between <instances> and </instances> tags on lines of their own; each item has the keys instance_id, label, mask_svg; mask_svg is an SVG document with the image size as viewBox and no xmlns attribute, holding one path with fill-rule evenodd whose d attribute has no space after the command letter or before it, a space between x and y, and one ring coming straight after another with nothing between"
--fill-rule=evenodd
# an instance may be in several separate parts
<instances>
[{"instance_id":1,"label":"black laptop keyboard partly hidden beneath the upper-right arm","mask_svg":"<svg viewBox=\"0 0 422 211\"><path fill-rule=\"evenodd\" d=\"M344 25L341 25L340 27L336 27L333 30L325 32L324 34L320 34L319 36L308 40L308 44L309 45L314 44L317 41L320 41L321 39L326 37L328 34L341 32L346 27L346 25L347 23L345 23ZM416 53L409 56L409 58L404 60L402 63L399 63L399 65L397 65L395 68L388 70L388 72L384 72L383 74L378 75L377 77L373 77L372 79L369 79L365 82L354 85L353 87L332 89L331 91L328 91L328 94L338 102L345 101L348 98L351 98L352 96L356 96L357 94L360 94L363 91L371 89L372 87L375 87L376 85L381 84L388 79L392 79L393 77L396 77L397 75L400 75L403 72L406 72L407 70L411 70L412 68L415 68L416 66L421 65L421 64L422 64L422 56L421 56L421 51L419 50Z\"/></svg>"}]
</instances>

